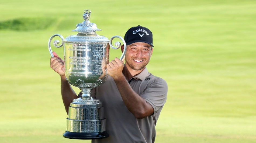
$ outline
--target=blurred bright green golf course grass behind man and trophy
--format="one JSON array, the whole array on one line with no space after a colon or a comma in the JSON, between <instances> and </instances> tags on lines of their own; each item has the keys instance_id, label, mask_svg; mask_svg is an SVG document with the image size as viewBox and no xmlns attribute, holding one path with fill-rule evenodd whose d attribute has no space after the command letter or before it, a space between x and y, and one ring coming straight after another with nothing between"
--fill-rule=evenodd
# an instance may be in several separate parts
<instances>
[{"instance_id":1,"label":"blurred bright green golf course grass behind man and trophy","mask_svg":"<svg viewBox=\"0 0 256 143\"><path fill-rule=\"evenodd\" d=\"M62 137L67 114L47 47L53 34L76 35L85 9L109 39L137 25L153 32L147 69L168 83L155 142L256 142L255 0L1 0L1 143L90 142Z\"/></svg>"}]
</instances>

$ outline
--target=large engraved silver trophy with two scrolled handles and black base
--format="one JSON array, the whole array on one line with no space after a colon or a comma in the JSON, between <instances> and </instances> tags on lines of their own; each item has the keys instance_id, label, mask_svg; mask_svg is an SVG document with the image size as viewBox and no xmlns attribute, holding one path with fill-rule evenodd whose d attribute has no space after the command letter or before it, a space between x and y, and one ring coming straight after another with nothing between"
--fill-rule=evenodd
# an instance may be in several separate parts
<instances>
[{"instance_id":1,"label":"large engraved silver trophy with two scrolled handles and black base","mask_svg":"<svg viewBox=\"0 0 256 143\"><path fill-rule=\"evenodd\" d=\"M104 36L97 35L99 31L96 24L89 21L90 10L84 10L85 21L77 24L75 30L77 35L70 35L67 38L59 34L51 36L48 42L48 49L51 56L51 40L55 36L62 39L53 42L55 47L64 47L65 75L68 83L82 90L82 95L74 99L68 109L67 128L63 137L71 139L99 139L108 137L106 133L106 118L103 115L102 102L91 97L91 90L103 84L108 71L106 65L109 63L109 46L113 49L120 47L120 42L112 45L113 38L120 38L124 45L124 58L126 43L120 36L113 36L110 40Z\"/></svg>"}]
</instances>

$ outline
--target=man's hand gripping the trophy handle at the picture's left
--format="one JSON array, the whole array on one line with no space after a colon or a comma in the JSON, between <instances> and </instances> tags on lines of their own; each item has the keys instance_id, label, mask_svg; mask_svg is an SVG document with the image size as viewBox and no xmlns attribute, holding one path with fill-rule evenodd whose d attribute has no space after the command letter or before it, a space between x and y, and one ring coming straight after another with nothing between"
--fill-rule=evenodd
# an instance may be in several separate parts
<instances>
[{"instance_id":1,"label":"man's hand gripping the trophy handle at the picture's left","mask_svg":"<svg viewBox=\"0 0 256 143\"><path fill-rule=\"evenodd\" d=\"M50 59L50 67L60 76L65 76L64 61L55 52L53 52L53 56Z\"/></svg>"}]
</instances>

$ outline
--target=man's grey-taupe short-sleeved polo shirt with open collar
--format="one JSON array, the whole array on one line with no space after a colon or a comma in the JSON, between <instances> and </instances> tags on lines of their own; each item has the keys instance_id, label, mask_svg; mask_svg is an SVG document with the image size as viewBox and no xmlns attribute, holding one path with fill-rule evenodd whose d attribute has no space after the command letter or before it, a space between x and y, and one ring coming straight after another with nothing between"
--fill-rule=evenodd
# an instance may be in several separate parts
<instances>
[{"instance_id":1,"label":"man's grey-taupe short-sleeved polo shirt with open collar","mask_svg":"<svg viewBox=\"0 0 256 143\"><path fill-rule=\"evenodd\" d=\"M106 118L108 138L92 140L93 143L151 143L155 141L155 124L167 98L167 83L147 71L129 81L132 89L144 98L153 108L154 114L137 119L127 109L111 76L92 91L92 97L101 100Z\"/></svg>"}]
</instances>

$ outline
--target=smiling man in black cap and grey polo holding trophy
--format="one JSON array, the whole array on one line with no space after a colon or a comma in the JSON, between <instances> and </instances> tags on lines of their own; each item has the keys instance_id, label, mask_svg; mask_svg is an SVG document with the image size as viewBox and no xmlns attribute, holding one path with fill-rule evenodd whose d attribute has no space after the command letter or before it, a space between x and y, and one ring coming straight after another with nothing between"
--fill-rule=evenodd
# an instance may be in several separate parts
<instances>
[{"instance_id":1,"label":"smiling man in black cap and grey polo holding trophy","mask_svg":"<svg viewBox=\"0 0 256 143\"><path fill-rule=\"evenodd\" d=\"M155 124L167 98L167 83L147 71L153 53L153 35L146 27L130 28L124 40L124 61L115 58L107 65L107 81L91 95L104 106L108 138L92 140L104 143L151 143L155 141ZM78 98L65 79L63 61L54 53L50 67L61 76L61 94L65 109Z\"/></svg>"}]
</instances>

